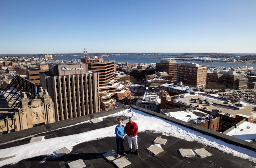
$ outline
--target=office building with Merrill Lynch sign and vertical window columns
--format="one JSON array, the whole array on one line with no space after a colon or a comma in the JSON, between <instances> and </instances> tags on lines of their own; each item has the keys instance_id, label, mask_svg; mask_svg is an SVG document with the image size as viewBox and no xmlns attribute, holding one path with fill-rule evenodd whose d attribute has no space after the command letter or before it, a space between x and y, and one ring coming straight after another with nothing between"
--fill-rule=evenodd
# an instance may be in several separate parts
<instances>
[{"instance_id":1,"label":"office building with Merrill Lynch sign and vertical window columns","mask_svg":"<svg viewBox=\"0 0 256 168\"><path fill-rule=\"evenodd\" d=\"M40 73L40 84L55 102L56 121L100 111L98 73L88 64L49 64Z\"/></svg>"}]
</instances>

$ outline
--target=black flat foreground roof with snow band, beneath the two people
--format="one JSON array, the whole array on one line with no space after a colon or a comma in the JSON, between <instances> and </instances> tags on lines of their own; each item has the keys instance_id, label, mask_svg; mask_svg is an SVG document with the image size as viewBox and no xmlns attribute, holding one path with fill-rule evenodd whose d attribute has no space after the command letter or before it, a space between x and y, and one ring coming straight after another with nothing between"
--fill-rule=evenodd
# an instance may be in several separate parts
<instances>
[{"instance_id":1,"label":"black flat foreground roof with snow band, beneath the two people","mask_svg":"<svg viewBox=\"0 0 256 168\"><path fill-rule=\"evenodd\" d=\"M103 121L100 123L91 124L85 121L81 124L63 129L37 134L36 136L44 136L41 142L28 144L30 137L27 137L18 141L0 144L0 158L15 155L15 157L1 161L0 167L67 168L68 163L82 159L86 167L113 168L113 163L106 161L102 155L106 152L116 150L114 128L117 125L117 120L126 120L129 116L132 116L134 122L139 126L138 146L140 153L140 155L135 155L132 152L125 156L131 162L131 165L128 166L129 168L254 168L256 166L255 163L245 159L255 161L256 152L225 143L219 139L145 114L141 111L131 110L128 109L103 117ZM153 145L156 137L167 139L167 143L161 146L164 150L163 153L153 156L146 149ZM53 151L63 146L66 146L71 152L61 157L56 157ZM205 158L199 158L197 156L181 157L177 153L177 149L180 148L190 148L193 150L204 148L212 156ZM127 138L125 138L125 152L128 150ZM22 157L23 159L19 160ZM9 164L6 165L7 163Z\"/></svg>"}]
</instances>

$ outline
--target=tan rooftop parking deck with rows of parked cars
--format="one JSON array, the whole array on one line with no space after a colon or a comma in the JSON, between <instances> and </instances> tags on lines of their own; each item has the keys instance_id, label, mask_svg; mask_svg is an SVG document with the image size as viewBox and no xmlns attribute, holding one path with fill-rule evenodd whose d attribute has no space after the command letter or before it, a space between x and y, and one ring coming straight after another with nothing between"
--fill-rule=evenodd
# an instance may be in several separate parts
<instances>
[{"instance_id":1,"label":"tan rooftop parking deck with rows of parked cars","mask_svg":"<svg viewBox=\"0 0 256 168\"><path fill-rule=\"evenodd\" d=\"M243 114L243 115L247 115L247 116L252 116L252 118L256 117L256 104L255 103L250 103L246 100L241 100L241 101L237 101L237 102L230 102L230 103L227 103L225 102L225 100L222 100L222 99L219 99L218 97L208 97L207 95L203 95L203 94L196 94L196 95L192 95L190 93L187 93L187 94L184 94L185 96L184 97L180 97L180 98L177 98L176 100L179 100L179 101L182 101L182 102L185 102L187 104L187 106L189 104L194 104L193 107L196 107L197 105L199 106L202 106L202 108L200 109L203 109L204 107L208 107L208 111L212 111L212 109L217 109L217 110L221 110L222 114L225 114L225 113L228 113L228 115L230 117L236 117L236 114ZM213 102L213 103L216 103L218 105L207 105L205 103L200 103L200 102L195 102L191 99L198 99L198 98L201 98L201 100L205 100L205 99L208 99L209 102ZM237 107L235 104L237 103L240 103L242 104L243 106L242 107L239 107L239 109L233 109L233 108L230 108L230 107L225 107L225 106L228 106L228 105L231 105L231 106L234 106L234 107ZM222 106L223 105L223 106Z\"/></svg>"}]
</instances>

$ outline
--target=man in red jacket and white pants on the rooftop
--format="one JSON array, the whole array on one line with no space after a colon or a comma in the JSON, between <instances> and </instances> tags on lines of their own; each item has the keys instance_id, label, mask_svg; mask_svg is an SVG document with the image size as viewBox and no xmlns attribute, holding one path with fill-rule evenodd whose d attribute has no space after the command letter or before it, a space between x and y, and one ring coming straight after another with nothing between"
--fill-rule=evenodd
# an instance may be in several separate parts
<instances>
[{"instance_id":1,"label":"man in red jacket and white pants on the rooftop","mask_svg":"<svg viewBox=\"0 0 256 168\"><path fill-rule=\"evenodd\" d=\"M129 117L129 123L125 125L125 132L128 135L128 144L129 144L129 153L132 151L132 141L135 146L136 154L139 155L138 152L138 142L137 142L137 132L139 131L138 125L134 122L132 122L132 117Z\"/></svg>"}]
</instances>

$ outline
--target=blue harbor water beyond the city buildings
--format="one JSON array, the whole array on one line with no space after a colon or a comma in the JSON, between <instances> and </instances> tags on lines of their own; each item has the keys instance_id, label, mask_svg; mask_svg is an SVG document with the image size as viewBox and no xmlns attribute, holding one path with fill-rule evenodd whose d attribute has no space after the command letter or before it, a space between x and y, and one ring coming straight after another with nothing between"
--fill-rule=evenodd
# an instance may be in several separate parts
<instances>
[{"instance_id":1,"label":"blue harbor water beyond the city buildings","mask_svg":"<svg viewBox=\"0 0 256 168\"><path fill-rule=\"evenodd\" d=\"M165 54L181 54L181 53L165 53ZM241 54L245 55L245 54ZM251 55L251 54L247 54ZM191 57L196 57L197 55L193 55ZM130 62L130 63L156 63L160 62L163 57L169 57L169 58L176 58L177 56L162 56L162 55L110 55L109 57L103 57L103 60L107 61L116 61L116 62ZM53 58L57 58L60 60L67 60L71 61L72 59L75 59L76 61L81 58L81 56L53 56ZM160 59L159 59L160 58ZM256 63L234 63L234 62L202 62L200 60L198 61L184 61L184 60L176 60L177 63L182 63L182 62L196 62L201 65L207 65L207 67L216 67L216 68L221 68L221 67L242 67L242 66L247 66L247 67L253 67L256 69Z\"/></svg>"}]
</instances>

